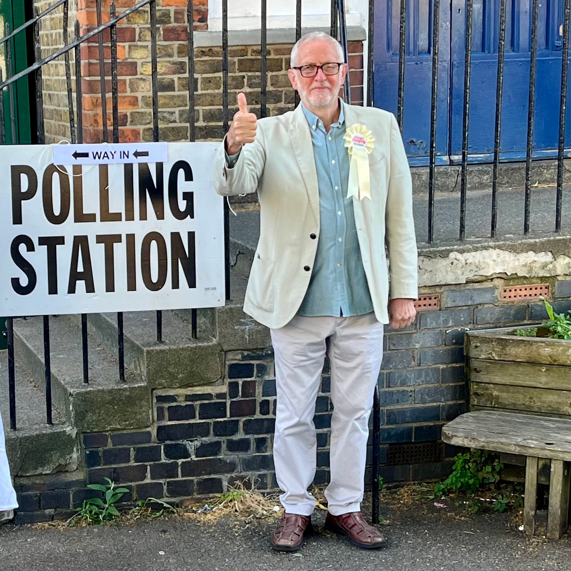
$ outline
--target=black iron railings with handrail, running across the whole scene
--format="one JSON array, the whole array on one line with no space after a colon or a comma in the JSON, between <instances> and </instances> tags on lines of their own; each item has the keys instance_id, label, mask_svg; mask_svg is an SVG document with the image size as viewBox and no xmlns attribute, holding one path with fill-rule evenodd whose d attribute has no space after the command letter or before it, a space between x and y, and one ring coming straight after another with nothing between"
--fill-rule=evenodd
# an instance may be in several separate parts
<instances>
[{"instance_id":1,"label":"black iron railings with handrail, running across the whole scene","mask_svg":"<svg viewBox=\"0 0 571 571\"><path fill-rule=\"evenodd\" d=\"M260 81L260 115L267 115L267 1L259 0L261 3L261 81ZM531 195L531 165L533 153L533 126L534 126L534 102L536 99L536 73L537 73L537 29L538 29L538 6L539 0L533 1L531 18L531 40L530 40L530 74L529 74L529 106L528 106L528 128L527 128L527 148L525 162L525 215L524 234L529 232L530 217L530 195ZM223 101L223 130L228 129L230 121L230 108L228 104L228 0L222 2L222 101ZM494 238L497 232L497 197L498 197L498 165L500 163L500 135L501 135L501 110L502 110L502 81L505 55L505 26L506 26L506 0L500 0L500 38L497 58L497 85L496 85L496 110L494 129L494 153L493 153L493 181L492 181L492 217L490 221L490 237ZM379 3L377 2L377 7ZM566 120L566 100L568 89L568 54L569 54L569 19L571 0L564 0L564 23L562 31L562 65L561 65L561 85L560 85L560 112L558 122L558 154L557 154L557 182L556 182L556 212L554 228L556 232L561 230L561 205L563 195L563 172L564 172L564 143L565 143L565 120ZM63 46L47 55L41 57L41 43L39 34L39 23L43 17L52 13L58 7L63 7ZM440 0L431 2L431 52L432 52L432 86L431 86L431 128L429 140L429 178L428 178L428 242L433 242L434 236L434 206L435 206L435 165L436 165L436 115L437 115L437 93L438 93L438 64L439 64L439 10ZM9 98L9 109L14 110L14 88L15 82L21 78L35 76L36 95L36 116L37 116L37 142L45 143L45 129L43 121L43 92L42 92L42 68L47 63L55 59L62 58L65 62L67 104L69 110L70 138L72 143L83 142L82 125L82 83L81 83L81 51L83 43L91 38L98 39L99 54L99 79L102 105L102 131L103 141L108 142L107 124L107 100L106 100L106 69L104 65L104 39L103 33L110 31L110 75L111 75L111 100L112 100L112 142L119 142L119 106L118 106L118 55L117 55L117 25L128 15L141 9L148 9L150 18L150 44L151 44L151 90L152 90L152 140L159 140L159 110L158 110L158 70L157 70L157 37L158 23L156 17L156 0L140 0L134 6L124 9L118 13L115 4L110 5L108 22L102 23L101 0L96 0L97 26L85 35L80 35L79 22L74 25L73 39L69 41L69 1L58 0L42 13L37 10L34 17L18 29L10 30L6 25L5 37L0 39L0 46L5 46L6 78L2 78L0 70L0 144L6 142L6 128L11 129L11 140L15 137L15 116L10 112L8 117L3 113L4 99ZM301 37L301 14L303 10L302 0L296 0L296 39ZM397 86L397 121L400 126L403 124L404 112L404 89L405 89L405 42L407 34L407 1L400 0L400 23L399 23L399 73ZM187 3L187 22L193 21L194 4L193 0ZM473 0L466 0L466 46L472 45L472 20L473 20ZM25 33L29 28L33 28L35 61L27 69L13 73L11 69L11 50L13 49L14 37L19 33ZM369 1L368 7L368 50L367 59L367 105L374 104L373 90L373 46L375 32L375 0ZM339 38L343 46L345 59L348 61L348 38L347 26L345 23L344 0L331 0L331 35ZM194 61L194 35L192 24L188 26L188 77L191 80L195 76ZM70 52L73 50L75 56L75 93L71 81ZM466 224L466 201L468 185L468 141L469 141L469 109L470 109L470 79L471 79L471 49L465 49L465 74L464 74L464 97L463 97L463 136L461 155L461 178L460 178L460 210L459 210L459 239L465 239ZM344 97L347 102L351 102L351 90L349 85L349 74L344 86ZM75 110L74 110L75 99ZM296 94L296 104L299 102ZM188 81L188 126L189 140L194 141L196 136L195 126L195 88L194 81ZM77 114L76 114L77 111ZM228 206L224 203L224 234L226 252L226 298L230 299L230 255L229 255L229 216ZM123 313L117 315L118 325L118 360L119 379L124 381L124 335L123 335ZM196 310L191 316L192 336L196 337ZM89 363L87 360L87 316L81 316L82 347L83 347L83 381L89 383ZM8 337L8 360L9 360L9 399L10 399L10 428L15 430L16 410L15 410L15 387L14 387L14 329L13 316L7 317L7 337ZM50 390L50 325L49 316L43 317L43 339L44 339L44 359L45 359L45 380L46 380L46 422L52 422L52 404ZM156 339L162 341L162 312L156 312ZM378 489L378 467L379 467L379 441L380 441L380 412L379 395L375 394L375 405L373 413L373 489ZM375 494L376 495L376 494ZM378 498L376 498L378 501ZM378 503L373 504L373 518L378 521Z\"/></svg>"}]
</instances>

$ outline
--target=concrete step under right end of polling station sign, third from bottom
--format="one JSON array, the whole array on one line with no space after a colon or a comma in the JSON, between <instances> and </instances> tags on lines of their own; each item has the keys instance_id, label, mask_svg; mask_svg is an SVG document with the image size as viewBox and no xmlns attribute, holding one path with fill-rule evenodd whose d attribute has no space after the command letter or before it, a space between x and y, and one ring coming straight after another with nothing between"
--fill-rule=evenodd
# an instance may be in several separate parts
<instances>
[{"instance_id":1,"label":"concrete step under right end of polling station sign, third from bottom","mask_svg":"<svg viewBox=\"0 0 571 571\"><path fill-rule=\"evenodd\" d=\"M79 316L71 316L77 320ZM89 331L117 355L116 313L91 313ZM192 339L190 321L163 311L163 339L156 340L156 312L123 313L125 365L150 389L211 385L222 378L220 345L200 332Z\"/></svg>"}]
</instances>

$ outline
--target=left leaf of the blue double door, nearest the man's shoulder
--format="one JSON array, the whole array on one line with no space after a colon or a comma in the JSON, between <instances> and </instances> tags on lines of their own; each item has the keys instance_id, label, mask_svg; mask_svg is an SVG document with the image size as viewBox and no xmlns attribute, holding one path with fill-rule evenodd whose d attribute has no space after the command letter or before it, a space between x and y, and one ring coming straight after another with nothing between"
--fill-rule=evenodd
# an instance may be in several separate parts
<instances>
[{"instance_id":1,"label":"left leaf of the blue double door, nearest the man's shoulder","mask_svg":"<svg viewBox=\"0 0 571 571\"><path fill-rule=\"evenodd\" d=\"M403 139L411 164L428 160L432 85L432 0L407 0ZM397 112L400 0L375 6L373 98L376 107ZM436 152L448 162L450 5L440 3Z\"/></svg>"}]
</instances>

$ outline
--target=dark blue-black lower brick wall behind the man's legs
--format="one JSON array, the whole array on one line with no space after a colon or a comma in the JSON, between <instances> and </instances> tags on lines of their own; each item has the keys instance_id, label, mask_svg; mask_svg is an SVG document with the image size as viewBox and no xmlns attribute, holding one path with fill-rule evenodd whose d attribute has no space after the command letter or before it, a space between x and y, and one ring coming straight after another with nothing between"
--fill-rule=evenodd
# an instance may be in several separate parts
<instances>
[{"instance_id":1,"label":"dark blue-black lower brick wall behind the man's legs","mask_svg":"<svg viewBox=\"0 0 571 571\"><path fill-rule=\"evenodd\" d=\"M571 309L571 278L550 283L557 312ZM434 480L448 476L460 449L441 446L441 428L466 410L463 337L475 328L505 327L545 319L537 300L500 301L508 280L439 288L441 309L419 312L405 330L385 330L381 396L380 475L385 482ZM16 478L21 504L17 522L70 517L93 492L87 483L111 478L130 492L126 501L147 497L184 504L185 498L221 493L236 480L275 490L272 440L275 376L272 349L224 354L220 384L154 392L148 429L82 435L82 466L76 472ZM315 409L315 484L329 480L331 378L327 361ZM426 445L439 455L395 454L395 447ZM413 451L414 452L414 451ZM369 438L366 483L371 470Z\"/></svg>"}]
</instances>

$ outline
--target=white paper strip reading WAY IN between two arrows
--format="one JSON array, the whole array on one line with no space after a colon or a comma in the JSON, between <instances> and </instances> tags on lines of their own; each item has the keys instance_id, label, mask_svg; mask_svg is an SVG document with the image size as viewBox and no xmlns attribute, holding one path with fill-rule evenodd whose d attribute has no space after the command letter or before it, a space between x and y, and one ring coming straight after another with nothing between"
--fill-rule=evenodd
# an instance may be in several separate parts
<instances>
[{"instance_id":1,"label":"white paper strip reading WAY IN between two arrows","mask_svg":"<svg viewBox=\"0 0 571 571\"><path fill-rule=\"evenodd\" d=\"M168 143L54 144L54 164L166 163Z\"/></svg>"}]
</instances>

